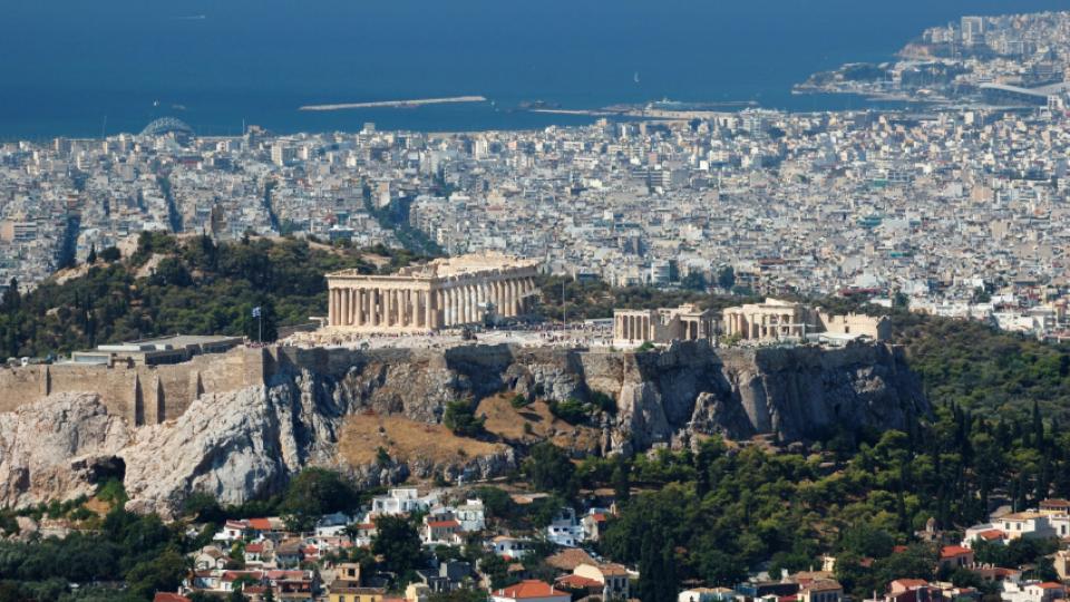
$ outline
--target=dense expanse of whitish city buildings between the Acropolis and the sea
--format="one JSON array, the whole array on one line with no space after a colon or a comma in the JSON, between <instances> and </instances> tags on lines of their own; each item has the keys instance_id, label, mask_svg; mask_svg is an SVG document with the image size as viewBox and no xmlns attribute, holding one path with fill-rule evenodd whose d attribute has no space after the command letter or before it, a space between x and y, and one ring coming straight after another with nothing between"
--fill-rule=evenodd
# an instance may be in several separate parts
<instances>
[{"instance_id":1,"label":"dense expanse of whitish city buildings between the Acropolis and the sea","mask_svg":"<svg viewBox=\"0 0 1070 602\"><path fill-rule=\"evenodd\" d=\"M909 69L942 66L956 74L945 88L975 98L891 111L651 109L656 118L469 134L368 124L196 137L165 118L106 139L7 143L0 282L32 287L146 230L403 237L614 285L713 284L731 268L756 293L898 299L1066 338L1070 93L1052 81L1070 60L1070 13L964 18L907 48ZM1043 103L985 88L1034 84Z\"/></svg>"}]
</instances>

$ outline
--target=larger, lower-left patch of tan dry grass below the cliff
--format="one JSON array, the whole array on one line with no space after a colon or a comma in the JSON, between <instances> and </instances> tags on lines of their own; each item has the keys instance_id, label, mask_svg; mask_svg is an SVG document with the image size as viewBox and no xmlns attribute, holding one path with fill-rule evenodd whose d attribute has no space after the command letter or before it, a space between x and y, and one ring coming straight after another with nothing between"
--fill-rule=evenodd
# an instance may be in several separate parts
<instances>
[{"instance_id":1,"label":"larger, lower-left patch of tan dry grass below the cliff","mask_svg":"<svg viewBox=\"0 0 1070 602\"><path fill-rule=\"evenodd\" d=\"M442 425L417 423L401 416L354 414L346 418L338 453L353 465L376 462L382 447L397 460L430 459L436 463L464 462L466 458L502 452L502 444L458 437Z\"/></svg>"}]
</instances>

